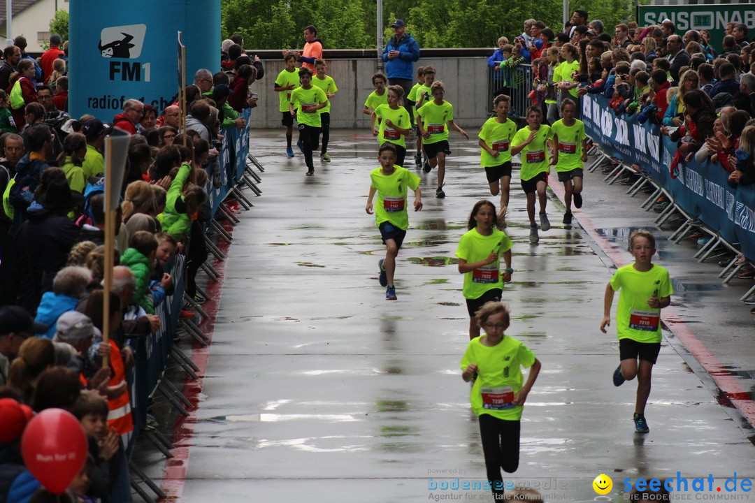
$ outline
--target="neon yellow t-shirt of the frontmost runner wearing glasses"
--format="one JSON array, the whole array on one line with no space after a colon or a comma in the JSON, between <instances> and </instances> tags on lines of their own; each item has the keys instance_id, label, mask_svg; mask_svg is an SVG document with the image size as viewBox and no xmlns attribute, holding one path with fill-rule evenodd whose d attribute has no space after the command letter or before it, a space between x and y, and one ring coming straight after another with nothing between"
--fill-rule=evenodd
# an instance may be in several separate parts
<instances>
[{"instance_id":1,"label":"neon yellow t-shirt of the frontmost runner wearing glasses","mask_svg":"<svg viewBox=\"0 0 755 503\"><path fill-rule=\"evenodd\" d=\"M535 353L516 339L504 335L492 348L483 345L479 336L472 339L461 357L461 370L470 363L477 366L477 379L470 391L472 411L477 416L489 414L504 421L522 419L521 405L514 405L513 397L524 384L522 367L535 363Z\"/></svg>"}]
</instances>

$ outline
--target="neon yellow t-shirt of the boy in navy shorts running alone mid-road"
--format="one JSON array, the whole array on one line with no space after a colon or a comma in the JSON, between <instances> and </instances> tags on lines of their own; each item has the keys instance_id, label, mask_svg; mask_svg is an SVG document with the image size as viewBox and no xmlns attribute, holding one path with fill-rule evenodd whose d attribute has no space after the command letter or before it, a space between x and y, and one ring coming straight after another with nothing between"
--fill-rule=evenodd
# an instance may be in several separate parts
<instances>
[{"instance_id":1,"label":"neon yellow t-shirt of the boy in navy shorts running alone mid-road","mask_svg":"<svg viewBox=\"0 0 755 503\"><path fill-rule=\"evenodd\" d=\"M384 175L382 167L376 167L370 173L372 186L377 189L377 203L374 205L375 223L391 222L396 227L406 230L409 216L406 212L406 191L416 190L421 179L411 171L395 166L393 173Z\"/></svg>"}]
</instances>

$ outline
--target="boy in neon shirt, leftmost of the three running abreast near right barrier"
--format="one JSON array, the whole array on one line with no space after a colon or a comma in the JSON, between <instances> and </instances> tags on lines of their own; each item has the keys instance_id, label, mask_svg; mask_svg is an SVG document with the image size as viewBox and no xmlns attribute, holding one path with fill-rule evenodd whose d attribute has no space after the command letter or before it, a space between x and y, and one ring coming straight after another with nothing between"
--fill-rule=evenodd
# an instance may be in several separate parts
<instances>
[{"instance_id":1,"label":"boy in neon shirt, leftmost of the three running abreast near right barrier","mask_svg":"<svg viewBox=\"0 0 755 503\"><path fill-rule=\"evenodd\" d=\"M496 116L482 124L477 137L480 147L479 164L485 168L490 193L501 193L501 212L498 226L505 222L504 215L509 205L511 186L511 140L516 134L516 123L508 118L511 109L510 98L499 94L493 100Z\"/></svg>"}]
</instances>

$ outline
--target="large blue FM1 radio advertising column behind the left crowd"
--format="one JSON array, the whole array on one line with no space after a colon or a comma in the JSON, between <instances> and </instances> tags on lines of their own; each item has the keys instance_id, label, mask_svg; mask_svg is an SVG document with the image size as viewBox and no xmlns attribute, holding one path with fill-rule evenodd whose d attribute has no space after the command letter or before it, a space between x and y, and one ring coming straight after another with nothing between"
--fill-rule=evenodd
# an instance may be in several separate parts
<instances>
[{"instance_id":1,"label":"large blue FM1 radio advertising column behind the left crowd","mask_svg":"<svg viewBox=\"0 0 755 503\"><path fill-rule=\"evenodd\" d=\"M131 98L162 112L178 92L179 31L189 84L197 69L220 69L220 0L71 0L69 13L72 117L112 121Z\"/></svg>"}]
</instances>

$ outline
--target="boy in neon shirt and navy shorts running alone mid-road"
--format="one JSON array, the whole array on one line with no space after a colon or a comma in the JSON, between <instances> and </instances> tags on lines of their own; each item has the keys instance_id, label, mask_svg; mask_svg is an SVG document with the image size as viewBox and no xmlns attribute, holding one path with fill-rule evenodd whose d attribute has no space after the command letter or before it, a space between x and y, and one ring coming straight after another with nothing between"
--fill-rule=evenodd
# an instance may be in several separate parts
<instances>
[{"instance_id":1,"label":"boy in neon shirt and navy shorts running alone mid-road","mask_svg":"<svg viewBox=\"0 0 755 503\"><path fill-rule=\"evenodd\" d=\"M375 222L380 229L383 243L386 247L385 259L380 259L381 287L385 290L386 300L396 300L396 287L393 285L393 274L396 271L396 256L404 241L406 229L409 226L409 216L406 212L406 189L414 191L414 211L422 209L422 192L419 189L420 177L396 166L396 146L384 143L377 152L377 160L381 167L376 167L370 173L370 193L367 196L368 215L373 213L372 198L377 192L377 207L374 207Z\"/></svg>"}]
</instances>

